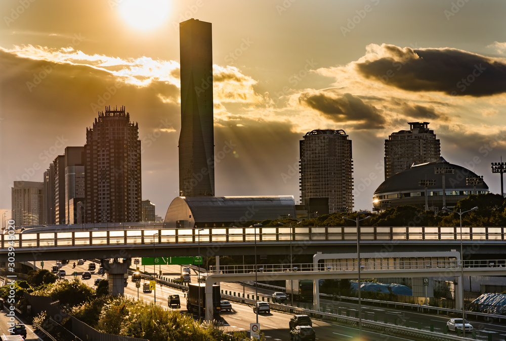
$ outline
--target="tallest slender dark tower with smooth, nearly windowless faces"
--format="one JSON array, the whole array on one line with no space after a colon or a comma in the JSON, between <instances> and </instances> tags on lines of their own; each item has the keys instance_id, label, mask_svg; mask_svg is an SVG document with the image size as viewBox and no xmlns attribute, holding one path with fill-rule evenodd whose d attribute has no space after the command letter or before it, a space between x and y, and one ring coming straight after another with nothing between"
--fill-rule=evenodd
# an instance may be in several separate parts
<instances>
[{"instance_id":1,"label":"tallest slender dark tower with smooth, nearly windowless faces","mask_svg":"<svg viewBox=\"0 0 506 341\"><path fill-rule=\"evenodd\" d=\"M179 192L182 197L215 194L213 131L213 44L211 24L179 24L181 53L181 134Z\"/></svg>"}]
</instances>

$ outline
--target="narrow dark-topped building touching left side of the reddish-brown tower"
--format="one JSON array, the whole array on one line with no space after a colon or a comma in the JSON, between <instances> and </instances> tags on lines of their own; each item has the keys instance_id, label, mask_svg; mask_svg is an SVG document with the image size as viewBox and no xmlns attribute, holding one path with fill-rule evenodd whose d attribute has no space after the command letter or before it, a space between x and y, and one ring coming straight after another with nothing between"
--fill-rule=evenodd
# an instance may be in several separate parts
<instances>
[{"instance_id":1,"label":"narrow dark-topped building touching left side of the reddish-brown tower","mask_svg":"<svg viewBox=\"0 0 506 341\"><path fill-rule=\"evenodd\" d=\"M84 147L65 148L65 223L83 223L85 200Z\"/></svg>"}]
</instances>

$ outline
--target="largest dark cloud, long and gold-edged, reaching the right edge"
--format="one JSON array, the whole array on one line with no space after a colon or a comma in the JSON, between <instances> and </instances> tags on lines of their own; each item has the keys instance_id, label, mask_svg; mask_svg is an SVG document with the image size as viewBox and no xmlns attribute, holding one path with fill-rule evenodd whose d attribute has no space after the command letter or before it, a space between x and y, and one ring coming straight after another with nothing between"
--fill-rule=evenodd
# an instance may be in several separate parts
<instances>
[{"instance_id":1,"label":"largest dark cloud, long and gold-edged, reaching the right edge","mask_svg":"<svg viewBox=\"0 0 506 341\"><path fill-rule=\"evenodd\" d=\"M409 91L488 96L506 92L506 64L453 48L378 46L384 56L356 63L366 78Z\"/></svg>"}]
</instances>

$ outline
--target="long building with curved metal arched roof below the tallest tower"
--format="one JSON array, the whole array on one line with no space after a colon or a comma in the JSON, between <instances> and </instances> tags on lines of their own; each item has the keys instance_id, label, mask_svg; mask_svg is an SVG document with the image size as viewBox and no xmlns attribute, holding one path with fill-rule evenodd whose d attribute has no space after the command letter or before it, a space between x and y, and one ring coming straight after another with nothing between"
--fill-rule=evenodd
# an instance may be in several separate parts
<instances>
[{"instance_id":1,"label":"long building with curved metal arched roof below the tallest tower","mask_svg":"<svg viewBox=\"0 0 506 341\"><path fill-rule=\"evenodd\" d=\"M177 197L168 207L170 228L243 226L251 220L296 217L293 196Z\"/></svg>"}]
</instances>

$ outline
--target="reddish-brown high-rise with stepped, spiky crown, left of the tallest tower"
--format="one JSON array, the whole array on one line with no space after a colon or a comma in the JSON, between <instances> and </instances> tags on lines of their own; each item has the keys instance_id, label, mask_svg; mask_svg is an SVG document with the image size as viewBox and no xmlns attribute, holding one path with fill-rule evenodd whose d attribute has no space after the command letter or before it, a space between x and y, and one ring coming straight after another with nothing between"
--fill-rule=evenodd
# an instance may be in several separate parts
<instances>
[{"instance_id":1,"label":"reddish-brown high-rise with stepped, spiky crown, left of the tallest tower","mask_svg":"<svg viewBox=\"0 0 506 341\"><path fill-rule=\"evenodd\" d=\"M86 129L86 222L141 220L141 141L125 108L106 107Z\"/></svg>"}]
</instances>

